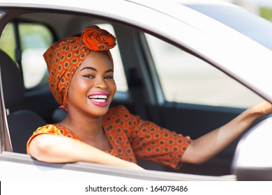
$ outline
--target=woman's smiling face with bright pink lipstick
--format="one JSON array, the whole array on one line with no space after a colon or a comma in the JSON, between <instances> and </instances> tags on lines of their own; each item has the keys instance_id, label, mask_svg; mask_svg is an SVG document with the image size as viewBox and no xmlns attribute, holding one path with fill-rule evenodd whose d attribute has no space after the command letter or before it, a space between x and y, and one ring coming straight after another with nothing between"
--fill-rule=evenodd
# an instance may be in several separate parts
<instances>
[{"instance_id":1,"label":"woman's smiling face with bright pink lipstick","mask_svg":"<svg viewBox=\"0 0 272 195\"><path fill-rule=\"evenodd\" d=\"M68 111L103 116L116 92L112 63L106 52L90 52L73 75Z\"/></svg>"}]
</instances>

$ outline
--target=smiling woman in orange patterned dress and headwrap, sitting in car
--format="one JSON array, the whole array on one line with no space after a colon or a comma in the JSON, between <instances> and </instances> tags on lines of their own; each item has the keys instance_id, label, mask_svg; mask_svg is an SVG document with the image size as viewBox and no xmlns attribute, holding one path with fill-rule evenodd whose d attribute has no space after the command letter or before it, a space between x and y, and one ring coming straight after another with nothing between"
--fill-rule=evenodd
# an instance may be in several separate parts
<instances>
[{"instance_id":1,"label":"smiling woman in orange patterned dress and headwrap, sitting in car","mask_svg":"<svg viewBox=\"0 0 272 195\"><path fill-rule=\"evenodd\" d=\"M71 36L45 52L50 88L68 113L61 123L39 127L27 152L45 162L96 162L142 169L136 158L179 169L220 153L259 117L271 114L269 102L257 104L226 125L192 140L130 114L109 109L116 84L109 49L115 37L98 26ZM70 139L70 138L73 139ZM61 143L61 146L59 144ZM203 152L204 151L204 152Z\"/></svg>"}]
</instances>

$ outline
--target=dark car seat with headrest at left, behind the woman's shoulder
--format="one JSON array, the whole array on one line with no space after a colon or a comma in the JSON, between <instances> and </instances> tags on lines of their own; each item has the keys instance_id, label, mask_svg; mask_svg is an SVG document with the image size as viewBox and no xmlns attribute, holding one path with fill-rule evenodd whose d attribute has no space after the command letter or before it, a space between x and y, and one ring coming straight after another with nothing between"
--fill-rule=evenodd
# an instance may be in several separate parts
<instances>
[{"instance_id":1,"label":"dark car seat with headrest at left, behind the woman's shoulder","mask_svg":"<svg viewBox=\"0 0 272 195\"><path fill-rule=\"evenodd\" d=\"M0 68L3 98L7 110L8 130L15 153L27 153L27 140L37 129L46 124L38 114L20 109L24 100L24 83L17 64L0 49Z\"/></svg>"}]
</instances>

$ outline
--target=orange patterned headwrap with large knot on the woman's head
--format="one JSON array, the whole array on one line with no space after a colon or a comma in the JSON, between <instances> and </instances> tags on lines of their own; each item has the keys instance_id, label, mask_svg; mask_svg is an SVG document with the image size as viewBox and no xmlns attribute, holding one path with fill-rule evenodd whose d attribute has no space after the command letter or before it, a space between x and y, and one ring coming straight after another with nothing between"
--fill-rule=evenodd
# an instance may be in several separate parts
<instances>
[{"instance_id":1,"label":"orange patterned headwrap with large knot on the woman's head","mask_svg":"<svg viewBox=\"0 0 272 195\"><path fill-rule=\"evenodd\" d=\"M47 49L45 62L49 73L49 84L56 102L67 109L70 81L90 51L107 52L116 45L116 38L111 33L93 25L86 27L80 36L70 36L55 42Z\"/></svg>"}]
</instances>

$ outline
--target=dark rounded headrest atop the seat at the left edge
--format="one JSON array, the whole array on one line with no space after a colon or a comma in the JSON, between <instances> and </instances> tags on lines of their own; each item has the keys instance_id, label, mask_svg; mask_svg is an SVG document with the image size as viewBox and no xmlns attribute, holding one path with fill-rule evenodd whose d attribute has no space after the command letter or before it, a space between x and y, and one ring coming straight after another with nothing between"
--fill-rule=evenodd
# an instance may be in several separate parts
<instances>
[{"instance_id":1,"label":"dark rounded headrest atop the seat at the left edge","mask_svg":"<svg viewBox=\"0 0 272 195\"><path fill-rule=\"evenodd\" d=\"M3 86L3 98L7 109L22 102L24 83L17 64L0 49L0 69Z\"/></svg>"}]
</instances>

